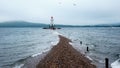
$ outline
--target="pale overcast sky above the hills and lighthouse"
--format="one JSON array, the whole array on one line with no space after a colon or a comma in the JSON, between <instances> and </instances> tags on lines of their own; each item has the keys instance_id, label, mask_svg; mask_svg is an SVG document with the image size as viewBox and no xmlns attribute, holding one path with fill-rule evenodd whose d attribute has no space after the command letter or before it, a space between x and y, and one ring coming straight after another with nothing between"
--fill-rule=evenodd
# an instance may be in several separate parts
<instances>
[{"instance_id":1,"label":"pale overcast sky above the hills and lighthouse","mask_svg":"<svg viewBox=\"0 0 120 68\"><path fill-rule=\"evenodd\" d=\"M120 22L120 0L0 0L0 22L28 21L56 24Z\"/></svg>"}]
</instances>

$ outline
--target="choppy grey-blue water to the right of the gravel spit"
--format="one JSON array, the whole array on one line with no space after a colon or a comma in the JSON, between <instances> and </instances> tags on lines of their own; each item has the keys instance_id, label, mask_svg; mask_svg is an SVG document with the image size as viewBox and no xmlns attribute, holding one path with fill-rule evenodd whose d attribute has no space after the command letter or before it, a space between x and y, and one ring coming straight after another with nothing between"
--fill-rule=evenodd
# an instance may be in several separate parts
<instances>
[{"instance_id":1,"label":"choppy grey-blue water to the right of the gravel spit","mask_svg":"<svg viewBox=\"0 0 120 68\"><path fill-rule=\"evenodd\" d=\"M87 54L97 68L105 68L105 58L109 58L110 64L120 57L120 27L80 27L66 28L60 32L72 39L77 50L80 49L80 41L90 48Z\"/></svg>"}]
</instances>

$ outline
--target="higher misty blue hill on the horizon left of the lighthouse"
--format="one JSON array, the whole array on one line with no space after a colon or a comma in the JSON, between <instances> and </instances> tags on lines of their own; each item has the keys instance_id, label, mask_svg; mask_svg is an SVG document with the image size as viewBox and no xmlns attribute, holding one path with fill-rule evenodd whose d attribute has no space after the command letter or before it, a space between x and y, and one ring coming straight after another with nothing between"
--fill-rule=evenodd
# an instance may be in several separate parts
<instances>
[{"instance_id":1,"label":"higher misty blue hill on the horizon left of the lighthouse","mask_svg":"<svg viewBox=\"0 0 120 68\"><path fill-rule=\"evenodd\" d=\"M47 24L42 23L31 23L25 21L11 21L11 22L2 22L0 27L46 27Z\"/></svg>"}]
</instances>

